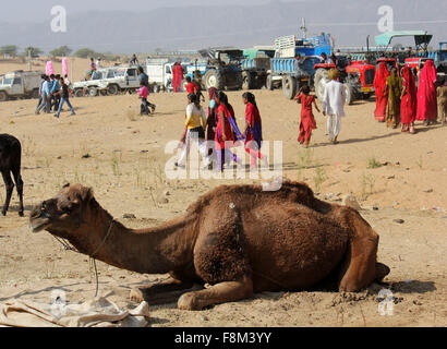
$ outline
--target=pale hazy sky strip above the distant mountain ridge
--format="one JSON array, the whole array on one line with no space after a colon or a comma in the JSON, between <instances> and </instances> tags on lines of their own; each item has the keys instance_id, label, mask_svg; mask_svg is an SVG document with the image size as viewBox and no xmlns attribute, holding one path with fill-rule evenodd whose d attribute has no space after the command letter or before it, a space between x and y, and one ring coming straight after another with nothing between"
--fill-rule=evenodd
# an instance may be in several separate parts
<instances>
[{"instance_id":1,"label":"pale hazy sky strip above the distant mountain ridge","mask_svg":"<svg viewBox=\"0 0 447 349\"><path fill-rule=\"evenodd\" d=\"M286 0L283 2L294 1L299 0ZM148 11L156 8L167 7L189 7L201 4L262 4L267 2L271 2L271 0L1 0L0 13L1 20L8 22L43 22L51 16L50 10L53 5L63 5L70 15L70 13L78 13L90 10L138 11L138 9L141 9L142 11ZM5 14L13 13L16 15L5 16Z\"/></svg>"}]
</instances>

